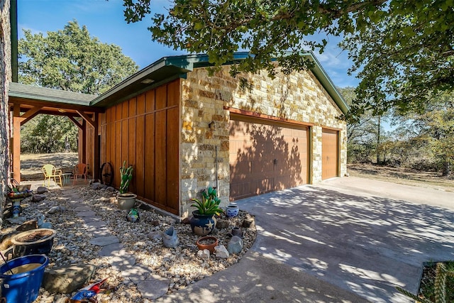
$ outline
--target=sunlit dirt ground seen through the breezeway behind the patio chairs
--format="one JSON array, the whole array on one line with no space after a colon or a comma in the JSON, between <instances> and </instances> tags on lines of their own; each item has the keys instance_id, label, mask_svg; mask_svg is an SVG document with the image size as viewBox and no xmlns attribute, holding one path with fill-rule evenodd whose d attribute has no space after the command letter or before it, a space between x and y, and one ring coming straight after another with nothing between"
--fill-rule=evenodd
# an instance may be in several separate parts
<instances>
[{"instance_id":1,"label":"sunlit dirt ground seen through the breezeway behind the patio chairs","mask_svg":"<svg viewBox=\"0 0 454 303\"><path fill-rule=\"evenodd\" d=\"M63 172L72 172L79 162L77 153L40 153L21 155L21 180L43 180L42 167L52 164Z\"/></svg>"}]
</instances>

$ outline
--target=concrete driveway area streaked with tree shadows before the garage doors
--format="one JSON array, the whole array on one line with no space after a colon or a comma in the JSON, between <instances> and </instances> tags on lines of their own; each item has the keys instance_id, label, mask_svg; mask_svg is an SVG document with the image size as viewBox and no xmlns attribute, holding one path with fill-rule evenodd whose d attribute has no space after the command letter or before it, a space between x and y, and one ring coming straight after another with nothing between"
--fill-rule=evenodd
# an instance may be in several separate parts
<instances>
[{"instance_id":1,"label":"concrete driveway area streaked with tree shadows before the garage doors","mask_svg":"<svg viewBox=\"0 0 454 303\"><path fill-rule=\"evenodd\" d=\"M372 302L411 302L422 263L454 259L454 212L304 186L243 199L253 250Z\"/></svg>"}]
</instances>

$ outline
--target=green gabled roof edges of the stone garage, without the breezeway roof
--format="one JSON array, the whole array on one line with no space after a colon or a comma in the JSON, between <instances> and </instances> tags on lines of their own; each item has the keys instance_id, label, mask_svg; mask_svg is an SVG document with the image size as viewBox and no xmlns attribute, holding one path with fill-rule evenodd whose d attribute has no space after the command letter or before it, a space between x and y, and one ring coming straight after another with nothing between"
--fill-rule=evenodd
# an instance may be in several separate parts
<instances>
[{"instance_id":1,"label":"green gabled roof edges of the stone garage, without the breezeway roof","mask_svg":"<svg viewBox=\"0 0 454 303\"><path fill-rule=\"evenodd\" d=\"M349 110L348 105L325 70L323 70L323 67L321 67L319 60L311 52L304 53L303 55L309 56L309 60L314 62L311 71L319 79L319 82L326 89L326 92L330 94L343 114L346 114ZM242 60L248 56L250 56L248 52L235 53L234 60ZM233 62L230 64L233 64ZM96 99L90 102L90 105L106 108L121 103L154 87L158 87L165 82L179 77L185 77L187 72L191 72L196 67L206 67L209 65L208 55L204 54L162 57L160 60L128 77L120 84L112 87L109 91L96 97Z\"/></svg>"}]
</instances>

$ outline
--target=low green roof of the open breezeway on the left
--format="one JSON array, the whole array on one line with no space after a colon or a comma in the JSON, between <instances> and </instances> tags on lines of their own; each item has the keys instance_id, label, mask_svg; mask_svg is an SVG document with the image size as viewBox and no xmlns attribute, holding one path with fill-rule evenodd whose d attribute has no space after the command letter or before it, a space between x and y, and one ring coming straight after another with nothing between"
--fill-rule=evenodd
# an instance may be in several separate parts
<instances>
[{"instance_id":1,"label":"low green roof of the open breezeway on the left","mask_svg":"<svg viewBox=\"0 0 454 303\"><path fill-rule=\"evenodd\" d=\"M16 82L9 83L9 97L19 99L31 99L36 101L49 101L55 104L73 104L89 106L90 101L96 98L92 94L81 94L60 89L49 89L47 87L33 87L27 84Z\"/></svg>"}]
</instances>

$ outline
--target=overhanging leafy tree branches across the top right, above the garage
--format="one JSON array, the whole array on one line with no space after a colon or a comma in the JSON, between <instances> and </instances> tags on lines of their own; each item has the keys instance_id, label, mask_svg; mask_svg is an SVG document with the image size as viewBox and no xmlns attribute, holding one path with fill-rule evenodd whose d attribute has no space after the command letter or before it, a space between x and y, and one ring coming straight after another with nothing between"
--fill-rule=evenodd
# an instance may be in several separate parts
<instances>
[{"instance_id":1,"label":"overhanging leafy tree branches across the top right, above the garage","mask_svg":"<svg viewBox=\"0 0 454 303\"><path fill-rule=\"evenodd\" d=\"M150 0L123 1L128 22L151 13ZM206 53L215 67L249 50L253 56L233 66L233 75L273 75L275 57L284 71L299 70L308 63L301 50L323 52L326 39L317 37L345 37L351 71L361 79L353 114L421 110L426 96L453 89L453 0L175 0L167 11L152 18L154 40Z\"/></svg>"}]
</instances>

